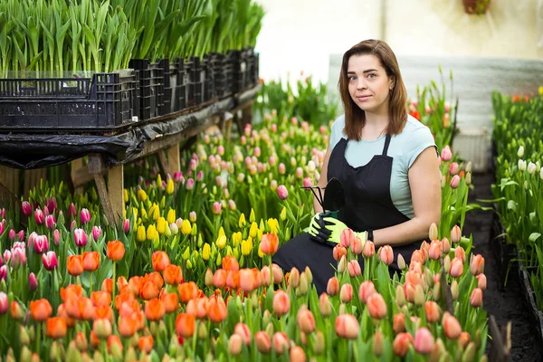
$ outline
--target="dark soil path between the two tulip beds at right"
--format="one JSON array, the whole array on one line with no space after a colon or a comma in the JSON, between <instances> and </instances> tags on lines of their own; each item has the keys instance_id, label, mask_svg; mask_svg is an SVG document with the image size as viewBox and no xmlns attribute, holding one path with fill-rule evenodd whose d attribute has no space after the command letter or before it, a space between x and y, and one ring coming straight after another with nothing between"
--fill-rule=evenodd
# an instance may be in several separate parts
<instances>
[{"instance_id":1,"label":"dark soil path between the two tulip beds at right","mask_svg":"<svg viewBox=\"0 0 543 362\"><path fill-rule=\"evenodd\" d=\"M491 184L494 176L491 173L475 174L472 177L474 189L470 192L470 202L478 199L491 199ZM530 318L529 303L524 291L520 288L519 272L515 265L509 272L507 285L500 281L500 263L492 251L492 212L472 211L466 215L462 230L464 235L473 235L475 253L480 253L485 260L484 271L487 276L487 290L484 291L483 308L489 318L494 316L497 324L506 326L511 322L511 361L543 361L543 346L541 345L535 324ZM490 352L491 338L487 344L487 354Z\"/></svg>"}]
</instances>

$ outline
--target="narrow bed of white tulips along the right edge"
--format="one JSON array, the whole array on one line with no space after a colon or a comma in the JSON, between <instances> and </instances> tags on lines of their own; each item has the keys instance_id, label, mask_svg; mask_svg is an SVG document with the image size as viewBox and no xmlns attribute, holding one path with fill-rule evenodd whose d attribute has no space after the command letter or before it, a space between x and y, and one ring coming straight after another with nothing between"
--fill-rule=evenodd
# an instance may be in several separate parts
<instances>
[{"instance_id":1,"label":"narrow bed of white tulips along the right edge","mask_svg":"<svg viewBox=\"0 0 543 362\"><path fill-rule=\"evenodd\" d=\"M517 247L521 276L529 279L525 289L543 335L543 313L538 311L543 310L543 205L538 202L543 194L540 95L530 99L493 94L497 155L492 191L499 200L497 211L507 241Z\"/></svg>"}]
</instances>

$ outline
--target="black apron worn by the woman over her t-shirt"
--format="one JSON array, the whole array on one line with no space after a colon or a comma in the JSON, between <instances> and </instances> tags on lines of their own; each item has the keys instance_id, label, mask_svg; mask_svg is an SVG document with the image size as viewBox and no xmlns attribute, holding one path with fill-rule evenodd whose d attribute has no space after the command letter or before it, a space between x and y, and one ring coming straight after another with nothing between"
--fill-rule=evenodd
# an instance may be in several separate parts
<instances>
[{"instance_id":1,"label":"black apron worn by the woman over her t-shirt","mask_svg":"<svg viewBox=\"0 0 543 362\"><path fill-rule=\"evenodd\" d=\"M352 230L361 232L384 229L409 221L395 208L390 196L392 157L387 156L390 136L386 135L382 155L375 155L367 165L352 167L345 158L347 139L341 138L329 158L327 177L341 181L345 192L345 207L339 210L338 219ZM393 247L394 262L389 266L391 274L399 271L397 255L400 253L409 264L411 254L419 249L422 241ZM328 281L334 276L338 262L334 260L332 247L311 240L309 233L300 233L285 243L273 255L272 262L283 271L296 267L303 271L310 267L318 293L326 291ZM359 262L363 262L362 257ZM333 265L333 267L332 267ZM361 265L362 266L362 265Z\"/></svg>"}]
</instances>

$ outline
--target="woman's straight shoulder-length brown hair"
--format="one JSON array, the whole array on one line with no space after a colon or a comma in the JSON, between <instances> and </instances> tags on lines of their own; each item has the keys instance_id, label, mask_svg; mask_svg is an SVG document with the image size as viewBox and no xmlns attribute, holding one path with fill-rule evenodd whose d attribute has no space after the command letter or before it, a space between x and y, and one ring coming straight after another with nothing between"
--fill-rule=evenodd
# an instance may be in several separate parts
<instances>
[{"instance_id":1,"label":"woman's straight shoulder-length brown hair","mask_svg":"<svg viewBox=\"0 0 543 362\"><path fill-rule=\"evenodd\" d=\"M353 55L372 54L381 62L387 76L393 76L395 84L389 94L388 115L390 122L385 129L389 135L397 135L404 129L407 121L407 91L402 80L400 67L395 54L387 43L380 40L365 40L357 43L343 54L341 73L339 74L338 88L345 109L345 133L348 139L360 140L361 131L366 124L366 113L355 104L348 92L348 60Z\"/></svg>"}]
</instances>

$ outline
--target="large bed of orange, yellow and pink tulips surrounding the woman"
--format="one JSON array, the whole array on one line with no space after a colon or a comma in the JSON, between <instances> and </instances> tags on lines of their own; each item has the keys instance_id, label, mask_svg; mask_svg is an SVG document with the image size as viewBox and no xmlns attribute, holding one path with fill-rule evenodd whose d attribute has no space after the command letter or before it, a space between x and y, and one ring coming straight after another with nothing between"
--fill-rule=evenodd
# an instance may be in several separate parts
<instances>
[{"instance_id":1,"label":"large bed of orange, yellow and pink tulips surrounding the woman","mask_svg":"<svg viewBox=\"0 0 543 362\"><path fill-rule=\"evenodd\" d=\"M327 129L267 115L204 136L183 172L126 167L125 220L94 188L33 190L0 210L0 354L8 360L484 360L484 260L461 226L470 166L443 148L443 217L394 278L394 249L346 230L327 293L271 255L309 224ZM311 145L311 146L309 146ZM461 170L461 168L463 168ZM139 177L146 175L148 178ZM460 225L460 226L459 226ZM357 258L364 260L363 266Z\"/></svg>"}]
</instances>

